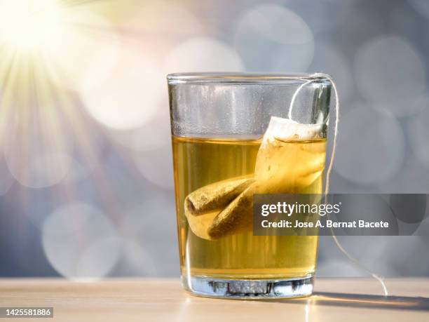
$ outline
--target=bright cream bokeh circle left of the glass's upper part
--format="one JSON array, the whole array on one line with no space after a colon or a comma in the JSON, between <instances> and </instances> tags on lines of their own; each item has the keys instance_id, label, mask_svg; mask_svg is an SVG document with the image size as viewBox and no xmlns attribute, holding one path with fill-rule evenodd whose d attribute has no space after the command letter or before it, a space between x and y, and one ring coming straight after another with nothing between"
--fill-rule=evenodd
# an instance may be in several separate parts
<instances>
[{"instance_id":1,"label":"bright cream bokeh circle left of the glass's upper part","mask_svg":"<svg viewBox=\"0 0 429 322\"><path fill-rule=\"evenodd\" d=\"M156 114L161 95L165 95L160 75L158 67L143 53L124 49L108 79L81 90L84 107L108 128L138 128Z\"/></svg>"}]
</instances>

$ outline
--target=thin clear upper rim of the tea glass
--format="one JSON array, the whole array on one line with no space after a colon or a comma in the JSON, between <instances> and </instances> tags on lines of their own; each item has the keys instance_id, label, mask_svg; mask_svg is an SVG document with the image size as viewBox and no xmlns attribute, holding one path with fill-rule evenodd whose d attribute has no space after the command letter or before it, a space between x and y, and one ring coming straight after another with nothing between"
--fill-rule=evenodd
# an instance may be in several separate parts
<instances>
[{"instance_id":1,"label":"thin clear upper rim of the tea glass","mask_svg":"<svg viewBox=\"0 0 429 322\"><path fill-rule=\"evenodd\" d=\"M330 81L322 73L247 73L247 72L184 72L168 74L169 84L175 83L257 83L294 84L307 81Z\"/></svg>"}]
</instances>

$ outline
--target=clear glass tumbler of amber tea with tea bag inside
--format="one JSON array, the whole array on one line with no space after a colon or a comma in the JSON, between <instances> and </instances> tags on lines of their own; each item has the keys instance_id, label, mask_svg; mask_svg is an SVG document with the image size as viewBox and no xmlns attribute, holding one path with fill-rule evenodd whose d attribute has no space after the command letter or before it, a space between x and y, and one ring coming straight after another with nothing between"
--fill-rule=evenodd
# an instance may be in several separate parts
<instances>
[{"instance_id":1,"label":"clear glass tumbler of amber tea with tea bag inside","mask_svg":"<svg viewBox=\"0 0 429 322\"><path fill-rule=\"evenodd\" d=\"M252 198L254 193L322 193L329 76L167 78L184 289L209 297L310 295L318 236L254 236ZM272 146L263 148L268 124L277 130L268 140ZM317 133L293 132L308 124L317 124L312 127ZM306 172L315 164L310 180Z\"/></svg>"}]
</instances>

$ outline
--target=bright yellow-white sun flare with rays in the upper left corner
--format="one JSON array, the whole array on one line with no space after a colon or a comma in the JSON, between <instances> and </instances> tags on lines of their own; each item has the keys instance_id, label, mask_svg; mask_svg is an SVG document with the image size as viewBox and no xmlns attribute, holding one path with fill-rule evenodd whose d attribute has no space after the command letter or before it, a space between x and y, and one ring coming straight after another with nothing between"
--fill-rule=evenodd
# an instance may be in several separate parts
<instances>
[{"instance_id":1,"label":"bright yellow-white sun flare with rays in the upper left corner","mask_svg":"<svg viewBox=\"0 0 429 322\"><path fill-rule=\"evenodd\" d=\"M0 0L0 149L25 187L56 185L76 154L96 158L79 86L117 43L93 2Z\"/></svg>"}]
</instances>

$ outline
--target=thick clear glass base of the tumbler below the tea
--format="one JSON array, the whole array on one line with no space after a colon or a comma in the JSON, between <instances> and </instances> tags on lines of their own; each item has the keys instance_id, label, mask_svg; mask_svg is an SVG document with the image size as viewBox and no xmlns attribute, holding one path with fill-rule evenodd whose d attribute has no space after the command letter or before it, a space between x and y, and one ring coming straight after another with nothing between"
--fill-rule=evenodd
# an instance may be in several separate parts
<instances>
[{"instance_id":1,"label":"thick clear glass base of the tumbler below the tea","mask_svg":"<svg viewBox=\"0 0 429 322\"><path fill-rule=\"evenodd\" d=\"M211 279L182 276L185 290L194 295L231 299L279 299L302 297L313 293L314 276L294 279Z\"/></svg>"}]
</instances>

